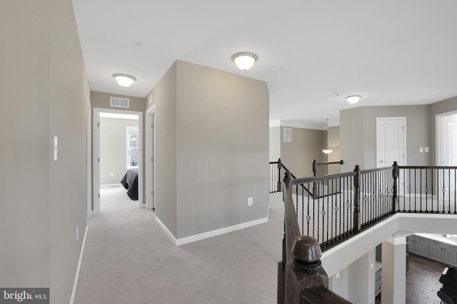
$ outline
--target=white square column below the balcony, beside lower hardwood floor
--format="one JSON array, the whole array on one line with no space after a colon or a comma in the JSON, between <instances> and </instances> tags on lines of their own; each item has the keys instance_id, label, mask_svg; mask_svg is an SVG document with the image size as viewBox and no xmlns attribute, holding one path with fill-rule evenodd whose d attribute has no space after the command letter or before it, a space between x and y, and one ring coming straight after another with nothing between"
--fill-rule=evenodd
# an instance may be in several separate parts
<instances>
[{"instance_id":1,"label":"white square column below the balcony, beside lower hardwood floor","mask_svg":"<svg viewBox=\"0 0 457 304\"><path fill-rule=\"evenodd\" d=\"M381 304L406 301L406 236L383 241Z\"/></svg>"}]
</instances>

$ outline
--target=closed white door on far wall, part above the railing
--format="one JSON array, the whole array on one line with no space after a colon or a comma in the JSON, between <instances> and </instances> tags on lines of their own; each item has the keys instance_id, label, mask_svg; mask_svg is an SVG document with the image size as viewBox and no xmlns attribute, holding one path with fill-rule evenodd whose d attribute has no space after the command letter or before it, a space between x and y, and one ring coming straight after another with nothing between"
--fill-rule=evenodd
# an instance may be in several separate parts
<instances>
[{"instance_id":1,"label":"closed white door on far wall, part above the railing","mask_svg":"<svg viewBox=\"0 0 457 304\"><path fill-rule=\"evenodd\" d=\"M376 118L377 165L406 165L406 117Z\"/></svg>"}]
</instances>

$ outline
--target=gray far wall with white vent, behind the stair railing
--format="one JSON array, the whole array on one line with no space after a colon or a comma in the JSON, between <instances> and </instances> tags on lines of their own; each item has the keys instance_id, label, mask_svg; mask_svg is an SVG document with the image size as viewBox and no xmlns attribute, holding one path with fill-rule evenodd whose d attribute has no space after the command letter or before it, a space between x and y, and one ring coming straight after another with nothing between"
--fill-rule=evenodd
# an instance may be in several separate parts
<instances>
[{"instance_id":1,"label":"gray far wall with white vent, behind the stair railing","mask_svg":"<svg viewBox=\"0 0 457 304\"><path fill-rule=\"evenodd\" d=\"M283 141L281 127L281 161L297 178L313 176L313 160L323 162L326 131L292 127L292 142Z\"/></svg>"}]
</instances>

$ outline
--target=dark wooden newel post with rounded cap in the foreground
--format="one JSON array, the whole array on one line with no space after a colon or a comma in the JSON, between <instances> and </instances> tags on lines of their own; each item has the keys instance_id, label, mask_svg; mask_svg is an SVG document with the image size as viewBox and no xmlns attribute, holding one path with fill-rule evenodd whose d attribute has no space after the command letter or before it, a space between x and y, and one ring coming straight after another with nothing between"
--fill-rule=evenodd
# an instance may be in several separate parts
<instances>
[{"instance_id":1,"label":"dark wooden newel post with rounded cap in the foreground","mask_svg":"<svg viewBox=\"0 0 457 304\"><path fill-rule=\"evenodd\" d=\"M292 259L286 264L286 303L299 304L308 288L328 288L328 276L321 263L321 247L311 236L297 236L293 241Z\"/></svg>"}]
</instances>

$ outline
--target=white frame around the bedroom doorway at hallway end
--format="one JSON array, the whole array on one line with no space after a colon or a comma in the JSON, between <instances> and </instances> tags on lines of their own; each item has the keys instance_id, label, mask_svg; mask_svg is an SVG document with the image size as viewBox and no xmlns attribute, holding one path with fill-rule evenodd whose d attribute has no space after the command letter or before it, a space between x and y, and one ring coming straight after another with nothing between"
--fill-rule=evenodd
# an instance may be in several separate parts
<instances>
[{"instance_id":1,"label":"white frame around the bedroom doorway at hallway end","mask_svg":"<svg viewBox=\"0 0 457 304\"><path fill-rule=\"evenodd\" d=\"M93 154L92 154L92 166L93 166L93 184L94 189L92 200L94 201L94 208L92 214L98 214L100 211L100 113L116 113L126 115L138 115L138 133L139 133L139 159L143 160L143 112L130 111L130 110L116 110L116 109L105 109L105 108L94 108L94 116L92 117L93 123ZM143 168L144 165L138 166L138 202L139 207L143 208Z\"/></svg>"}]
</instances>

